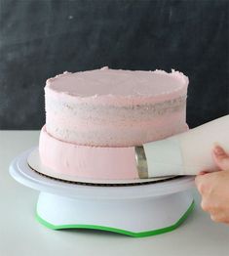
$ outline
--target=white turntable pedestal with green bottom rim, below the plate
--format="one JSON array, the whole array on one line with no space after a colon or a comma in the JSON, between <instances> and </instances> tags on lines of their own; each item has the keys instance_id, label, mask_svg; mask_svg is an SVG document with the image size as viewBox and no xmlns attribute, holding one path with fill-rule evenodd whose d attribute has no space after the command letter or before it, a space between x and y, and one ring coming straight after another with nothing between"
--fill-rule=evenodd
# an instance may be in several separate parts
<instances>
[{"instance_id":1,"label":"white turntable pedestal with green bottom rim, below the plate","mask_svg":"<svg viewBox=\"0 0 229 256\"><path fill-rule=\"evenodd\" d=\"M96 229L147 236L176 229L193 206L193 197L188 191L123 200L77 199L40 192L36 217L54 230Z\"/></svg>"}]
</instances>

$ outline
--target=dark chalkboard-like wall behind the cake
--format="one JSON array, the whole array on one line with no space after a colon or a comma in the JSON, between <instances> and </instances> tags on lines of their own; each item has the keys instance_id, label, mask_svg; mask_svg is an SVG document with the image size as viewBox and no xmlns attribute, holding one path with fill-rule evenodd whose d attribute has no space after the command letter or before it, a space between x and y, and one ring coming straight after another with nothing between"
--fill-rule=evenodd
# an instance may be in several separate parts
<instances>
[{"instance_id":1,"label":"dark chalkboard-like wall behind the cake","mask_svg":"<svg viewBox=\"0 0 229 256\"><path fill-rule=\"evenodd\" d=\"M46 79L64 70L178 69L187 122L229 112L229 2L0 0L0 129L40 129Z\"/></svg>"}]
</instances>

